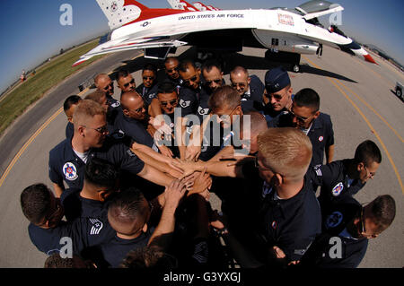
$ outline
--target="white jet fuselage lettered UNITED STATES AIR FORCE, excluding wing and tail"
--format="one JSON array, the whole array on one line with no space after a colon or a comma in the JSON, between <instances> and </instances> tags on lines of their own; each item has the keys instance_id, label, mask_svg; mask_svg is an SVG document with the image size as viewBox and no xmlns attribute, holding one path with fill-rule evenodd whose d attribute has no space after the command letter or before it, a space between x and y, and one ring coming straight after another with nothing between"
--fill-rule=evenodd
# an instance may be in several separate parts
<instances>
[{"instance_id":1,"label":"white jet fuselage lettered UNITED STATES AIR FORCE, excluding wing and tail","mask_svg":"<svg viewBox=\"0 0 404 286\"><path fill-rule=\"evenodd\" d=\"M169 36L181 39L205 30L251 29L263 46L279 51L313 54L318 43L336 47L352 42L303 20L302 16L278 10L227 10L184 12L127 24L114 30L111 39Z\"/></svg>"}]
</instances>

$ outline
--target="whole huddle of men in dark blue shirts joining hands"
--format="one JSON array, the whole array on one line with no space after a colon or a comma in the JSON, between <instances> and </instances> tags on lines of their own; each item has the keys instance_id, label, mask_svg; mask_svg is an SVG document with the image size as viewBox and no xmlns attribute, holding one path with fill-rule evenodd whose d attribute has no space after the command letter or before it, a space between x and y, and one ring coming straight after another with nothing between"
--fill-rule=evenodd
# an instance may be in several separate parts
<instances>
[{"instance_id":1,"label":"whole huddle of men in dark blue shirts joining hands","mask_svg":"<svg viewBox=\"0 0 404 286\"><path fill-rule=\"evenodd\" d=\"M21 195L45 267L360 264L396 212L391 195L354 198L382 162L376 143L334 160L316 91L294 93L281 66L263 81L234 66L227 83L222 64L170 56L146 64L140 85L122 68L66 98L66 139L49 152L53 186Z\"/></svg>"}]
</instances>

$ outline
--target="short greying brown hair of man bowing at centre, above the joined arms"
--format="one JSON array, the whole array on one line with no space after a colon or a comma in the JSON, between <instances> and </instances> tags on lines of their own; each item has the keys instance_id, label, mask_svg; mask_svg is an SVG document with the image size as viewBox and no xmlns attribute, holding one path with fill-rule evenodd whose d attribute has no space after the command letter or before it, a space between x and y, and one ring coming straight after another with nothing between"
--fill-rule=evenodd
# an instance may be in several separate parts
<instances>
[{"instance_id":1,"label":"short greying brown hair of man bowing at centre, above the joined arms","mask_svg":"<svg viewBox=\"0 0 404 286\"><path fill-rule=\"evenodd\" d=\"M217 88L207 102L212 111L223 108L236 108L242 104L242 98L230 85Z\"/></svg>"}]
</instances>

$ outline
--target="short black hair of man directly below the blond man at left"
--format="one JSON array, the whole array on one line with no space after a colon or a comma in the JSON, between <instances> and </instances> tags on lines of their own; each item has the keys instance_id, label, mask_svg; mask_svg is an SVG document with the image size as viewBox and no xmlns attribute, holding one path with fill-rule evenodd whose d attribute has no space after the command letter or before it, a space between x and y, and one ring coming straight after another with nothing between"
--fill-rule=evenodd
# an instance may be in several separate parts
<instances>
[{"instance_id":1,"label":"short black hair of man directly below the blond man at left","mask_svg":"<svg viewBox=\"0 0 404 286\"><path fill-rule=\"evenodd\" d=\"M114 187L119 170L106 160L92 158L85 165L84 179L93 186Z\"/></svg>"}]
</instances>

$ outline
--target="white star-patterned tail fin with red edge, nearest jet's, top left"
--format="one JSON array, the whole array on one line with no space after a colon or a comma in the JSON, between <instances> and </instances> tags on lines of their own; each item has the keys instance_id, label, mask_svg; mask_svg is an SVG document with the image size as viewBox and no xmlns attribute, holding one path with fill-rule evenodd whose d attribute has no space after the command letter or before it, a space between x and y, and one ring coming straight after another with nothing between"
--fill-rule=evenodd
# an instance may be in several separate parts
<instances>
[{"instance_id":1,"label":"white star-patterned tail fin with red edge, nearest jet's, top left","mask_svg":"<svg viewBox=\"0 0 404 286\"><path fill-rule=\"evenodd\" d=\"M97 0L97 3L107 17L111 30L136 20L142 11L149 9L135 0Z\"/></svg>"}]
</instances>

